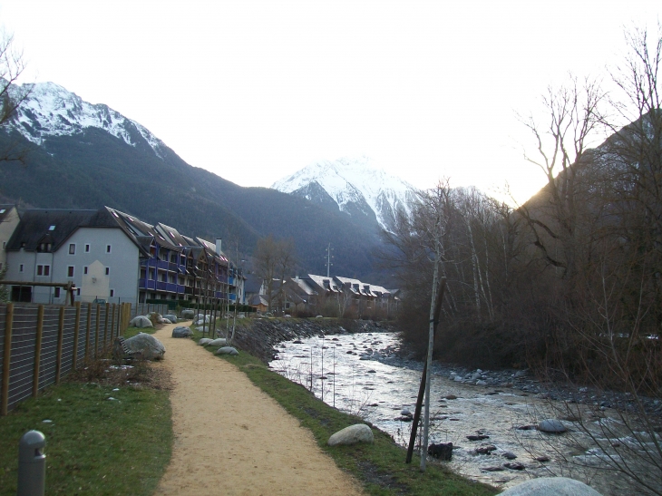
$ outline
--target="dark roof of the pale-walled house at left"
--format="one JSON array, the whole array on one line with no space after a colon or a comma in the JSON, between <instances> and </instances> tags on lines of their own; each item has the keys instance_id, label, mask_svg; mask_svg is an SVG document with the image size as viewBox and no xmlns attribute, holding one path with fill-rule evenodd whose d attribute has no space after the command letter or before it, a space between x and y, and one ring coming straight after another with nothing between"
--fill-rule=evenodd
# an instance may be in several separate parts
<instances>
[{"instance_id":1,"label":"dark roof of the pale-walled house at left","mask_svg":"<svg viewBox=\"0 0 662 496\"><path fill-rule=\"evenodd\" d=\"M117 228L108 211L68 209L28 209L21 216L6 249L36 251L39 244L51 243L60 248L78 228Z\"/></svg>"}]
</instances>

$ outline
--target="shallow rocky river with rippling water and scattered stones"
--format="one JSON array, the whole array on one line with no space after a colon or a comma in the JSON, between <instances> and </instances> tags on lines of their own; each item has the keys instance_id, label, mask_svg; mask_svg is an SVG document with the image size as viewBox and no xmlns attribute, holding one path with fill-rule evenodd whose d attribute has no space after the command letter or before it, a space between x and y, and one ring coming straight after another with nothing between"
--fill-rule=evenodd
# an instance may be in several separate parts
<instances>
[{"instance_id":1,"label":"shallow rocky river with rippling water and scattered stones","mask_svg":"<svg viewBox=\"0 0 662 496\"><path fill-rule=\"evenodd\" d=\"M269 365L405 445L422 365L403 356L394 333L375 332L379 327L361 328L359 334L339 330L337 335L326 331L326 336L311 331L311 336L273 345ZM609 456L619 460L628 456L624 448L636 453L655 442L646 433L632 433L611 408L627 407L627 396L554 387L527 371L435 364L432 377L431 443L453 443L451 467L477 481L510 487L531 477L563 474L603 494L626 494L631 483L606 470ZM647 404L654 413L660 411L655 402ZM535 428L548 418L558 420L566 432ZM641 472L646 477L650 471L642 466Z\"/></svg>"}]
</instances>

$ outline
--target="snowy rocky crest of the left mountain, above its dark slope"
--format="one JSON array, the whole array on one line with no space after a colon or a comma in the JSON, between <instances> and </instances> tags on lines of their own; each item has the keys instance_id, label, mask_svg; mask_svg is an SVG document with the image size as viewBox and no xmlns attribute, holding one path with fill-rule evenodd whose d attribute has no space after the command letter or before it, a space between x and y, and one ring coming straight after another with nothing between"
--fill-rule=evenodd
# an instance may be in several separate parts
<instances>
[{"instance_id":1,"label":"snowy rocky crest of the left mountain, above its dark slope","mask_svg":"<svg viewBox=\"0 0 662 496\"><path fill-rule=\"evenodd\" d=\"M85 128L100 128L131 146L139 136L150 145L157 157L167 150L163 141L138 122L127 119L102 103L92 104L55 83L34 83L12 86L13 96L29 91L7 126L20 132L38 145L53 136L79 134Z\"/></svg>"}]
</instances>

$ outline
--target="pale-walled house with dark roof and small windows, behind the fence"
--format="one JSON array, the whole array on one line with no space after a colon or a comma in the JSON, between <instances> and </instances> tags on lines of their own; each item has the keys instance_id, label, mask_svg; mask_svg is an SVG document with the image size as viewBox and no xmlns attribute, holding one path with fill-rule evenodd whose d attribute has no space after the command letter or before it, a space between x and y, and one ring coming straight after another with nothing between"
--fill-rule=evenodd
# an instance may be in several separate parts
<instances>
[{"instance_id":1,"label":"pale-walled house with dark roof and small windows, behind the fence","mask_svg":"<svg viewBox=\"0 0 662 496\"><path fill-rule=\"evenodd\" d=\"M28 209L6 246L11 281L67 283L76 297L136 302L138 261L149 252L127 237L108 209ZM60 287L13 285L13 301L65 303Z\"/></svg>"}]
</instances>

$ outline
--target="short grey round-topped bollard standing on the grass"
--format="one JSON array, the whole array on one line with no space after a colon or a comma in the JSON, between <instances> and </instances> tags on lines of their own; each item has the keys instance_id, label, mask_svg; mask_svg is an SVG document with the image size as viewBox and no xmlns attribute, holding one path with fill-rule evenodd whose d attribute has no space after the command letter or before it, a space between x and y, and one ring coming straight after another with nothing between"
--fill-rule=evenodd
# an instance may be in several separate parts
<instances>
[{"instance_id":1,"label":"short grey round-topped bollard standing on the grass","mask_svg":"<svg viewBox=\"0 0 662 496\"><path fill-rule=\"evenodd\" d=\"M18 442L18 491L16 496L44 496L46 481L46 438L28 431Z\"/></svg>"}]
</instances>

